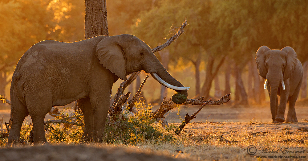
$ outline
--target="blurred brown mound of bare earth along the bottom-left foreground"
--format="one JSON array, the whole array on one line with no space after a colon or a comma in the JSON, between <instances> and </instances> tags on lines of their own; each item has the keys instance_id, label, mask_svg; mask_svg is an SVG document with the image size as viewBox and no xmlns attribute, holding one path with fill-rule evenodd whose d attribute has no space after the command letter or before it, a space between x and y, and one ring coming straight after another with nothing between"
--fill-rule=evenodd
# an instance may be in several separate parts
<instances>
[{"instance_id":1,"label":"blurred brown mound of bare earth along the bottom-left foreground","mask_svg":"<svg viewBox=\"0 0 308 161\"><path fill-rule=\"evenodd\" d=\"M44 145L0 149L1 161L173 161L170 156L121 147L83 145Z\"/></svg>"}]
</instances>

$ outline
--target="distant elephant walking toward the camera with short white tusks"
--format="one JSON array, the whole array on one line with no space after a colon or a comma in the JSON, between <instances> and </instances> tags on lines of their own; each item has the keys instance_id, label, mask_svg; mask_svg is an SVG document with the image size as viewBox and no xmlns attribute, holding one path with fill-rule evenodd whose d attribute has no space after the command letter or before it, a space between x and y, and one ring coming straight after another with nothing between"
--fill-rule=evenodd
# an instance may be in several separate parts
<instances>
[{"instance_id":1,"label":"distant elephant walking toward the camera with short white tusks","mask_svg":"<svg viewBox=\"0 0 308 161\"><path fill-rule=\"evenodd\" d=\"M271 50L261 46L256 52L256 63L260 76L266 79L264 89L267 88L269 92L273 123L285 121L287 102L289 109L286 122L297 122L294 106L302 85L303 67L294 49L284 47ZM280 96L279 105L277 95Z\"/></svg>"}]
</instances>

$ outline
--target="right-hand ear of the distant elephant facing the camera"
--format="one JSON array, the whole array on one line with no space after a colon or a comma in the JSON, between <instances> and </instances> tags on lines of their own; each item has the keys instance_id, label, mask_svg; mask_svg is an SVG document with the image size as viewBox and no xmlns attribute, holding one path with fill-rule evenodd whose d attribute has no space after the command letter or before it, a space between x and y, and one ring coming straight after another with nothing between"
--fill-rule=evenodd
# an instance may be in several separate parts
<instances>
[{"instance_id":1,"label":"right-hand ear of the distant elephant facing the camera","mask_svg":"<svg viewBox=\"0 0 308 161\"><path fill-rule=\"evenodd\" d=\"M284 47L281 49L282 51L287 53L286 56L286 67L283 73L283 79L286 80L292 76L294 69L296 67L297 62L297 54L292 47Z\"/></svg>"}]
</instances>

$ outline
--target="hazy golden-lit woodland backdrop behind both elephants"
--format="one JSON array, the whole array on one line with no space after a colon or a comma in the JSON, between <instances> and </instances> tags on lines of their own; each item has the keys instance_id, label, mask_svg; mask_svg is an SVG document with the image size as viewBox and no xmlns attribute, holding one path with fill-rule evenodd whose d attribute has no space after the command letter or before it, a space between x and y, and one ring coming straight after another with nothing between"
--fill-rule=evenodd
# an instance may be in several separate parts
<instances>
[{"instance_id":1,"label":"hazy golden-lit woodland backdrop behind both elephants","mask_svg":"<svg viewBox=\"0 0 308 161\"><path fill-rule=\"evenodd\" d=\"M133 34L151 48L163 44L185 18L185 33L156 56L184 86L188 98L220 98L235 104L269 100L257 71L255 52L291 46L304 67L299 99L307 99L308 2L306 0L113 0L107 1L109 36ZM0 94L10 99L15 65L28 48L45 39L84 39L84 0L0 0ZM126 90L139 89L143 72ZM114 84L116 92L119 80ZM143 88L148 103L174 91L150 77ZM3 106L4 104L2 104ZM1 107L0 108L4 108Z\"/></svg>"}]
</instances>

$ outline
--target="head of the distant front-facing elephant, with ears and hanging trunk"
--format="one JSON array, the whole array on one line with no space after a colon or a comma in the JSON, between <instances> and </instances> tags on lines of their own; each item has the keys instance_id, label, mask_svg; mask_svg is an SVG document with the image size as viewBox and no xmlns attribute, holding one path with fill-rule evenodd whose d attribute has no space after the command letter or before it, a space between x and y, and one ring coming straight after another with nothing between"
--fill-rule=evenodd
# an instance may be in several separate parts
<instances>
[{"instance_id":1,"label":"head of the distant front-facing elephant, with ears and hanging trunk","mask_svg":"<svg viewBox=\"0 0 308 161\"><path fill-rule=\"evenodd\" d=\"M292 76L296 67L297 54L292 47L284 47L281 50L271 50L267 46L261 46L256 52L256 63L260 76L265 80L264 89L270 86L270 109L272 118L276 117L276 98L278 87L285 90L284 81ZM281 86L280 86L281 85Z\"/></svg>"}]
</instances>

